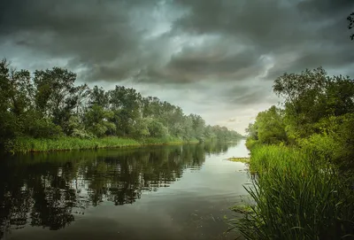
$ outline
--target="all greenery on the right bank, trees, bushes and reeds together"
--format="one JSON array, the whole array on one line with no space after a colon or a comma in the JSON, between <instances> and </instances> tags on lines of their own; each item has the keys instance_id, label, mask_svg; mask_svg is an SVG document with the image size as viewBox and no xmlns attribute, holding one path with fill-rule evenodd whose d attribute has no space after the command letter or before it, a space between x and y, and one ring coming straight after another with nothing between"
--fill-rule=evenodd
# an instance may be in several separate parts
<instances>
[{"instance_id":1,"label":"all greenery on the right bank, trees, bushes and reeds together","mask_svg":"<svg viewBox=\"0 0 354 240\"><path fill-rule=\"evenodd\" d=\"M281 105L247 128L257 205L238 227L247 239L352 239L354 80L319 67L273 91Z\"/></svg>"}]
</instances>

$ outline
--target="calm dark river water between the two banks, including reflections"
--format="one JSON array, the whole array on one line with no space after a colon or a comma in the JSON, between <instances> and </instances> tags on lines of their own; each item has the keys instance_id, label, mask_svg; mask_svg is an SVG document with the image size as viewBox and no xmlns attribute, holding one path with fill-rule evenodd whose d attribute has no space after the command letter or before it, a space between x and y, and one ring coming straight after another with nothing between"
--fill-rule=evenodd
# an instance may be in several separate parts
<instances>
[{"instance_id":1,"label":"calm dark river water between the two banks, including reflections","mask_svg":"<svg viewBox=\"0 0 354 240\"><path fill-rule=\"evenodd\" d=\"M0 160L0 238L235 239L244 142Z\"/></svg>"}]
</instances>

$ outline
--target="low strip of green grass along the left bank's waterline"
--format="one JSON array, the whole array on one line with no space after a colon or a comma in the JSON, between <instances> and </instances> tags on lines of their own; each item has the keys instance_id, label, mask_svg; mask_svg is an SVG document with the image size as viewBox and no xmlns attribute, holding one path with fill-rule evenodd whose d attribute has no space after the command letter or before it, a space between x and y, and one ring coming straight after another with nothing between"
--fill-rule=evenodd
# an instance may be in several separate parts
<instances>
[{"instance_id":1,"label":"low strip of green grass along the left bank's waterline","mask_svg":"<svg viewBox=\"0 0 354 240\"><path fill-rule=\"evenodd\" d=\"M81 139L76 137L61 137L58 139L39 139L30 137L19 137L7 143L5 151L8 152L34 152L34 151L71 151L102 148L120 148L142 145L163 145L186 143L180 138L145 138L135 140L132 138L120 138L116 136ZM196 140L189 143L197 143Z\"/></svg>"}]
</instances>

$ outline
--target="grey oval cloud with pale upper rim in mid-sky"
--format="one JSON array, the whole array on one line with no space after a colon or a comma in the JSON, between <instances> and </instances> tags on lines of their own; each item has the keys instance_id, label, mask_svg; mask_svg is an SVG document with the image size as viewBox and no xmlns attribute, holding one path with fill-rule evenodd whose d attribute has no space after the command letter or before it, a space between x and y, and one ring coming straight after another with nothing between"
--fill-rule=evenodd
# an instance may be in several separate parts
<instances>
[{"instance_id":1,"label":"grey oval cloud with pale upper rim in mid-sky","mask_svg":"<svg viewBox=\"0 0 354 240\"><path fill-rule=\"evenodd\" d=\"M205 36L203 38L206 38ZM148 66L136 79L145 82L196 83L242 81L262 70L262 58L247 46L235 48L233 39L204 39L198 46L181 46L163 66Z\"/></svg>"}]
</instances>

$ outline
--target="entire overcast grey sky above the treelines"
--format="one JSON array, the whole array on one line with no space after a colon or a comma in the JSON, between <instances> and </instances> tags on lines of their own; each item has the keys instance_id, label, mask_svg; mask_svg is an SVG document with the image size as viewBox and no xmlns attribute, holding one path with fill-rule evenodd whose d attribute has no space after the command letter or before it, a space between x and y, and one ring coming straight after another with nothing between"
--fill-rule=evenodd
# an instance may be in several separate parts
<instances>
[{"instance_id":1,"label":"entire overcast grey sky above the treelines","mask_svg":"<svg viewBox=\"0 0 354 240\"><path fill-rule=\"evenodd\" d=\"M323 66L354 77L354 0L3 0L0 58L124 85L244 134L273 81Z\"/></svg>"}]
</instances>

